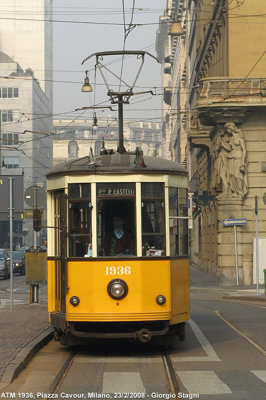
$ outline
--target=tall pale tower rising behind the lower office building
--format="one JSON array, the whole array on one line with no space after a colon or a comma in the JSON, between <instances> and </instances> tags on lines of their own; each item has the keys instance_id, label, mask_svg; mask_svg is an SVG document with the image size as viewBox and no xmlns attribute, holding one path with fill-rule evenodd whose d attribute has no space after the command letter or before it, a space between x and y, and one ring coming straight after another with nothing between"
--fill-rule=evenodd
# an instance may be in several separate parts
<instances>
[{"instance_id":1,"label":"tall pale tower rising behind the lower office building","mask_svg":"<svg viewBox=\"0 0 266 400\"><path fill-rule=\"evenodd\" d=\"M0 51L30 68L52 112L52 0L0 0Z\"/></svg>"}]
</instances>

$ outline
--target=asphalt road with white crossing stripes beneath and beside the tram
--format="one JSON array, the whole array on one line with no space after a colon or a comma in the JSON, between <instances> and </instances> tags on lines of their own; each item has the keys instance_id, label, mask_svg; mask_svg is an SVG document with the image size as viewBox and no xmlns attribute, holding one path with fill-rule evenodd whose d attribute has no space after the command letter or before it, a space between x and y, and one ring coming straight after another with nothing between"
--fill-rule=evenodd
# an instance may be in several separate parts
<instances>
[{"instance_id":1,"label":"asphalt road with white crossing stripes beneath and beside the tram","mask_svg":"<svg viewBox=\"0 0 266 400\"><path fill-rule=\"evenodd\" d=\"M23 277L15 279L18 289L15 296L24 299L27 294L23 294L22 289L19 292L19 285L23 286L19 279ZM2 284L0 282L0 289ZM194 395L201 400L265 400L266 351L255 346L258 343L266 350L265 331L266 304L239 304L224 301L217 291L192 291L187 338L176 348L169 349L180 384L179 398L193 398ZM36 397L36 393L47 392L67 355L68 348L61 347L58 342L48 343L4 391L33 393L35 398L44 398ZM84 394L82 398L88 398L88 393L110 394L115 398L115 392L139 393L139 398L168 398L158 347L131 346L121 340L79 348L57 389L58 398L66 398L60 393Z\"/></svg>"}]
</instances>

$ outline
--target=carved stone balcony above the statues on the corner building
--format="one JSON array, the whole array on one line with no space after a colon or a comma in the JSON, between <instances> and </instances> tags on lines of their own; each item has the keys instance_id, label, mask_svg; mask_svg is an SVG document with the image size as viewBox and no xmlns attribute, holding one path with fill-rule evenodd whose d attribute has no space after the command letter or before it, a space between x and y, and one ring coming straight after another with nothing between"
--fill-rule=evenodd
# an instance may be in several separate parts
<instances>
[{"instance_id":1,"label":"carved stone balcony above the statues on the corner building","mask_svg":"<svg viewBox=\"0 0 266 400\"><path fill-rule=\"evenodd\" d=\"M266 77L209 77L200 85L196 107L204 125L244 122L266 107Z\"/></svg>"}]
</instances>

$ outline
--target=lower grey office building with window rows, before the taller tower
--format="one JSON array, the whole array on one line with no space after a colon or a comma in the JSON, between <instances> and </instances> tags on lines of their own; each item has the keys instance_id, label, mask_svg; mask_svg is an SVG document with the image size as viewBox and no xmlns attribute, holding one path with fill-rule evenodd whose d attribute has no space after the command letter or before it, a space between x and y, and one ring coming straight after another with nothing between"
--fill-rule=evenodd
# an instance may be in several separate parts
<instances>
[{"instance_id":1,"label":"lower grey office building with window rows, before the taller tower","mask_svg":"<svg viewBox=\"0 0 266 400\"><path fill-rule=\"evenodd\" d=\"M9 77L0 77L0 175L23 175L23 192L36 182L43 183L45 189L45 174L52 166L52 135L47 136L52 123L52 118L47 117L48 99L37 80L3 52L0 52L0 75ZM8 188L1 189L8 195ZM29 206L23 203L23 198L21 202L23 212ZM0 244L3 244L9 241L9 221L1 216L2 213ZM14 241L33 244L32 219L26 219L25 212L23 218L14 221L13 231ZM27 232L26 236L22 235L23 231ZM41 243L45 228L39 235L38 243Z\"/></svg>"}]
</instances>

